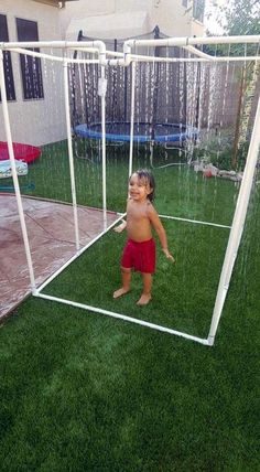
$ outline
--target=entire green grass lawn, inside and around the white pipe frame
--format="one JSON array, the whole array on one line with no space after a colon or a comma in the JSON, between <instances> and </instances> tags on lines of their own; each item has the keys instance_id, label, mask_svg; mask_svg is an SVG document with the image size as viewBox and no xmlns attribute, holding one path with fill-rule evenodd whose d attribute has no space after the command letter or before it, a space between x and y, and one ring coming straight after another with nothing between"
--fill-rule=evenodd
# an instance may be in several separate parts
<instances>
[{"instance_id":1,"label":"entire green grass lawn, inside and around the white pipe frame","mask_svg":"<svg viewBox=\"0 0 260 472\"><path fill-rule=\"evenodd\" d=\"M126 162L119 152L108 162L111 210L124 210ZM134 168L143 164L139 155ZM26 179L39 196L69 201L67 172L61 146ZM160 213L231 223L232 182L203 180L185 165L154 175ZM98 162L76 161L76 185L80 204L100 206ZM214 347L51 301L23 302L0 329L1 471L259 470L259 216L256 183ZM138 275L129 296L111 299L124 242L112 232L45 291L207 335L228 229L163 223L176 265L159 249L149 307L136 307Z\"/></svg>"}]
</instances>

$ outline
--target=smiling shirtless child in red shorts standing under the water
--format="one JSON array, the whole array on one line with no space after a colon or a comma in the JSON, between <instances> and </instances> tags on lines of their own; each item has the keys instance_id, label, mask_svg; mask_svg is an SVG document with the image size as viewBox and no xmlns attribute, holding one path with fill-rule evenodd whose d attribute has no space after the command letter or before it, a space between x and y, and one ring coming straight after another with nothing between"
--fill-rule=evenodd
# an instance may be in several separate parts
<instances>
[{"instance_id":1,"label":"smiling shirtless child in red shorts standing under the water","mask_svg":"<svg viewBox=\"0 0 260 472\"><path fill-rule=\"evenodd\" d=\"M115 228L121 233L127 228L128 240L121 259L122 286L113 292L117 299L130 291L131 269L142 273L143 291L137 304L145 305L152 294L152 275L155 270L155 242L152 228L155 229L162 250L167 259L174 258L167 249L167 238L164 227L152 204L155 183L148 170L139 170L129 179L129 197L127 203L127 221Z\"/></svg>"}]
</instances>

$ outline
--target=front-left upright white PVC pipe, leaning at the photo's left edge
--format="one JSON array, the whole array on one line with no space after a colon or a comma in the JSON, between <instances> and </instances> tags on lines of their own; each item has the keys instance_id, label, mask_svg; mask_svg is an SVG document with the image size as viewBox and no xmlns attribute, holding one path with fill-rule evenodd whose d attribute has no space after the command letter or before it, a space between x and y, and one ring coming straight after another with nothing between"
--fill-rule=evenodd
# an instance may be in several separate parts
<instances>
[{"instance_id":1,"label":"front-left upright white PVC pipe, leaning at the photo's left edge","mask_svg":"<svg viewBox=\"0 0 260 472\"><path fill-rule=\"evenodd\" d=\"M36 293L32 255L31 255L31 249L29 244L28 229L26 229L26 224L25 224L25 218L23 213L22 199L21 199L21 192L19 186L13 146L12 146L12 135L11 135L10 118L9 118L9 111L8 111L7 89L6 89L4 72L3 72L2 50L0 50L0 90L1 90L1 98L2 98L3 122L4 122L4 130L6 130L7 142L8 142L8 152L9 152L9 158L10 158L10 163L12 169L13 186L14 186L15 196L17 196L18 213L19 213L19 218L20 218L20 224L22 229L22 237L23 237L23 244L24 244L24 249L26 255L31 289L33 293Z\"/></svg>"}]
</instances>

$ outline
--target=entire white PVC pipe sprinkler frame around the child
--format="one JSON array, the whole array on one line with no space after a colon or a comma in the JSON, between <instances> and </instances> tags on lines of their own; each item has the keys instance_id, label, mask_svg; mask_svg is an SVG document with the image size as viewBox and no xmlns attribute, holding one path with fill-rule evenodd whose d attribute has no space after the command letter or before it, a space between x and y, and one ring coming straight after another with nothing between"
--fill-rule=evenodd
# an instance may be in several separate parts
<instances>
[{"instance_id":1,"label":"entire white PVC pipe sprinkler frame around the child","mask_svg":"<svg viewBox=\"0 0 260 472\"><path fill-rule=\"evenodd\" d=\"M105 109L106 109L106 78L105 78L105 66L107 64L109 65L122 65L128 66L133 61L133 67L132 67L132 85L131 85L131 129L130 129L130 155L129 155L129 174L132 171L132 140L133 140L133 121L134 121L134 62L139 60L145 61L145 56L138 56L138 54L131 55L131 49L132 47L142 47L142 46L183 46L191 49L193 45L198 44L235 44L235 43L258 43L260 42L260 35L258 36L223 36L223 37L172 37L172 39L165 39L165 40L131 40L127 41L123 45L123 57L116 58L116 60L107 60L106 57L106 46L101 41L91 41L91 42L82 42L80 43L80 50L88 51L90 53L98 53L98 60L73 60L68 57L56 57L51 56L42 53L36 53L33 51L24 50L25 47L57 47L57 49L78 49L78 42L65 42L65 41L55 41L55 42L30 42L30 43L0 43L0 89L2 95L2 109L3 109L3 120L4 120L4 129L7 135L7 142L8 142L8 150L10 155L10 162L11 162L11 169L12 169L12 176L13 176L13 183L14 183L14 191L18 202L18 211L19 211L19 217L22 228L22 236L24 242L24 248L25 248L25 255L28 260L28 267L29 267L29 275L30 275L30 281L31 281L31 289L32 294L35 297L40 297L47 300L58 301L61 303L65 303L72 307L85 309L88 311L106 314L112 318L121 319L124 321L129 321L142 326L148 326L158 331L166 332L170 334L174 334L176 336L181 336L191 341L198 342L204 345L212 346L215 341L215 335L217 332L218 323L220 320L220 315L223 312L223 307L226 300L229 281L231 278L234 265L237 257L237 251L239 248L239 244L242 236L243 225L246 221L247 215L247 208L249 204L252 182L253 182L253 173L258 160L258 153L260 148L260 99L258 101L258 108L256 112L254 118L254 125L253 130L251 135L251 141L249 146L248 157L247 157L247 163L245 167L243 178L240 185L240 191L238 195L238 201L236 205L236 211L234 215L232 226L229 235L229 240L226 249L226 255L223 264L220 280L218 285L217 290L217 297L215 301L215 308L213 312L212 318L212 324L208 333L207 339L202 339L197 336L189 335L187 333L183 333L181 331L172 330L170 328L161 326L158 324L149 323L143 320L138 320L131 317L127 317L124 314L110 312L108 310L102 310L97 307L91 307L88 304L77 303L73 302L71 300L61 299L57 297L51 297L44 293L41 293L41 291L50 283L55 277L57 277L58 273L61 273L73 260L75 260L79 255L82 255L90 245L93 245L96 240L98 240L104 234L106 234L118 221L120 221L124 215L120 215L117 222L115 222L109 227L107 226L107 204L106 204L106 117L105 117ZM22 54L30 54L42 58L52 58L54 61L62 61L64 63L64 93L65 93L65 115L66 115L66 127L67 127L67 140L68 140L68 158L69 158L69 170L71 170L71 182L72 182L72 197L73 197L73 210L74 210L74 223L75 223L75 240L76 240L76 254L73 258L71 258L63 267L61 267L53 276L51 276L45 282L36 288L35 286L35 277L34 277L34 270L33 270L33 264L32 264L32 257L31 257L31 250L30 250L30 244L29 244L29 237L28 237L28 230L26 230L26 224L23 213L23 206L22 206L22 199L21 199L21 192L19 187L19 180L17 174L17 168L14 162L14 152L13 152L13 144L12 144L12 136L11 136L11 126L10 126L10 118L9 118L9 111L8 111L8 101L7 101L7 90L6 90L6 82L4 82L4 72L3 72L3 53L2 51L10 50L17 53ZM195 53L195 51L193 51ZM205 62L205 61L221 61L221 62L231 62L234 60L236 61L248 61L248 60L254 60L259 61L259 56L250 56L248 58L245 57L212 57L208 56L205 57L205 55L202 56L202 54L198 54L198 57L193 61L197 62ZM149 60L147 57L147 60ZM156 58L152 57L152 61ZM159 58L161 60L161 58ZM167 60L166 57L163 60ZM169 60L170 62L174 61L172 58ZM188 58L187 58L188 61ZM100 75L100 83L99 83L99 95L101 97L101 126L102 126L102 202L104 202L104 230L88 245L86 245L84 248L79 248L79 237L78 237L78 219L77 219L77 204L76 204L76 191L75 191L75 176L74 176L74 162L73 162L73 148L72 148L72 135L71 135L71 122L69 122L69 100L68 100L68 81L67 81L67 64L68 63L98 63L101 66L101 75ZM171 216L161 215L161 217L166 218L173 218ZM181 218L176 218L181 219ZM184 221L188 221L183 218ZM207 224L206 222L194 222L198 224ZM221 226L221 225L216 225Z\"/></svg>"}]
</instances>

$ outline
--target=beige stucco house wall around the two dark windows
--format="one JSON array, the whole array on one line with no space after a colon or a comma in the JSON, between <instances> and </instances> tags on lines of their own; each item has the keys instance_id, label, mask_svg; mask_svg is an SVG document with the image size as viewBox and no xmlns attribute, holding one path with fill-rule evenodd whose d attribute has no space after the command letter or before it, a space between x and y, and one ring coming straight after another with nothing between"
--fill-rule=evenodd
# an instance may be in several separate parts
<instances>
[{"instance_id":1,"label":"beige stucco house wall around the two dark windows","mask_svg":"<svg viewBox=\"0 0 260 472\"><path fill-rule=\"evenodd\" d=\"M15 18L36 21L40 41L61 39L59 10L56 8L31 0L0 0L0 13L7 15L9 41L18 40ZM41 50L41 52L44 51ZM9 101L13 141L41 146L64 139L66 131L64 99L61 87L62 66L53 67L50 62L44 64L42 61L44 99L40 100L23 99L20 61L19 55L14 53L12 53L12 68L17 95L15 101ZM6 140L1 104L0 140Z\"/></svg>"}]
</instances>

